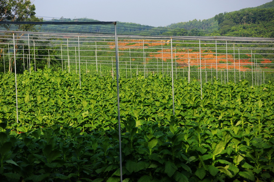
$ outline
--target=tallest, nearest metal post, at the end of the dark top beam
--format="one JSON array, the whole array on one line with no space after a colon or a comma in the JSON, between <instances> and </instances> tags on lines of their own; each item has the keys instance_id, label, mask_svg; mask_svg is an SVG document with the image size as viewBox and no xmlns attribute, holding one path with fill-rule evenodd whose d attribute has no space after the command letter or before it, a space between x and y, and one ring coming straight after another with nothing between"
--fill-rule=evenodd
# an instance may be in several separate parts
<instances>
[{"instance_id":1,"label":"tallest, nearest metal post, at the end of the dark top beam","mask_svg":"<svg viewBox=\"0 0 274 182\"><path fill-rule=\"evenodd\" d=\"M114 24L115 29L115 50L116 50L116 70L118 70L118 41L116 34L116 23ZM118 106L118 131L119 131L119 153L120 153L120 178L123 182L123 173L122 173L122 149L121 149L121 123L120 123L120 96L119 96L119 75L116 71L116 80L117 80L117 106Z\"/></svg>"}]
</instances>

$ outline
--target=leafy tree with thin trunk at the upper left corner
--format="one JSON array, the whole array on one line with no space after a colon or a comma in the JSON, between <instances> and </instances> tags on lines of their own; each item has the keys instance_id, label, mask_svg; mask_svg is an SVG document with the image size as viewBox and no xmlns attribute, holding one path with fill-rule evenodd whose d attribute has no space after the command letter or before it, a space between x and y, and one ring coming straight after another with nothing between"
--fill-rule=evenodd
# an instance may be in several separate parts
<instances>
[{"instance_id":1,"label":"leafy tree with thin trunk at the upper left corner","mask_svg":"<svg viewBox=\"0 0 274 182\"><path fill-rule=\"evenodd\" d=\"M0 21L12 21L12 22L40 22L43 19L37 18L35 16L35 6L30 2L30 0L5 0L0 2ZM1 24L6 30L15 31L36 31L35 25L7 25ZM24 34L17 34L16 36L16 54L18 52L18 42L20 37ZM8 42L7 39L1 39L0 42ZM3 49L0 50L0 59ZM10 59L12 60L12 58ZM14 67L14 61L11 65L9 60L9 71L12 72Z\"/></svg>"}]
</instances>

